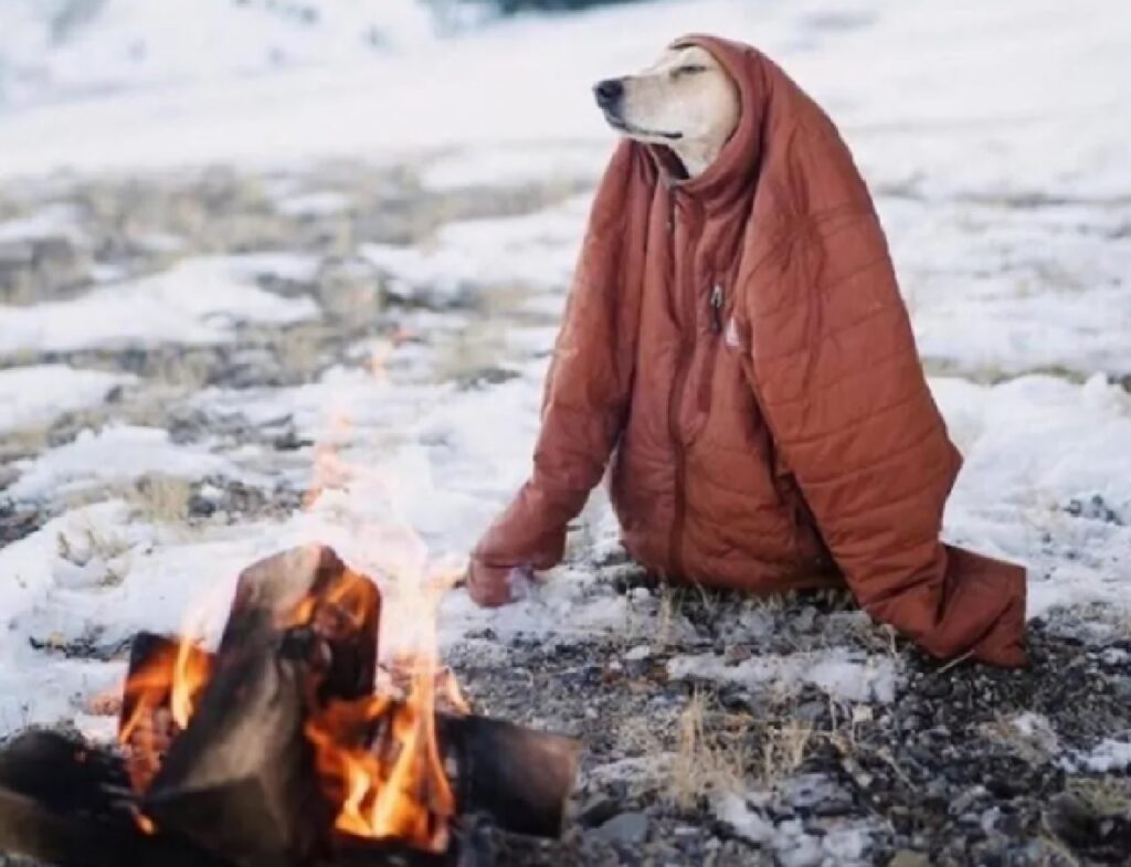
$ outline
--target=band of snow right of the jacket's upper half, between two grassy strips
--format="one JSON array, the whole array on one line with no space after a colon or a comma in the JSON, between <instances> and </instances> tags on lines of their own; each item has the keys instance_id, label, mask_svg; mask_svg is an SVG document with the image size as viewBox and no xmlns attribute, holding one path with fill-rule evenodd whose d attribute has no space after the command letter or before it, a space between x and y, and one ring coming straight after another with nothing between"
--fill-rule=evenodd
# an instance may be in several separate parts
<instances>
[{"instance_id":1,"label":"band of snow right of the jacket's upper half, between two grassy strips","mask_svg":"<svg viewBox=\"0 0 1131 867\"><path fill-rule=\"evenodd\" d=\"M1125 211L898 197L880 211L930 362L1131 372Z\"/></svg>"}]
</instances>

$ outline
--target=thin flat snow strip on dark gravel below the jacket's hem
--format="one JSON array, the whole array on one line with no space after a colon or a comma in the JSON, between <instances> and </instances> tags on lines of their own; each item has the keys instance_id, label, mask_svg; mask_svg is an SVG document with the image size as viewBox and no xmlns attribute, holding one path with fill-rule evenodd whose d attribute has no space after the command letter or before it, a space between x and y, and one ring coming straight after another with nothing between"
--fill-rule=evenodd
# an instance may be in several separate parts
<instances>
[{"instance_id":1,"label":"thin flat snow strip on dark gravel below the jacket's hem","mask_svg":"<svg viewBox=\"0 0 1131 867\"><path fill-rule=\"evenodd\" d=\"M748 687L804 682L846 701L883 703L895 700L898 679L892 659L847 648L791 656L766 654L737 665L727 665L715 653L673 657L667 662L667 674L676 679L719 680Z\"/></svg>"}]
</instances>

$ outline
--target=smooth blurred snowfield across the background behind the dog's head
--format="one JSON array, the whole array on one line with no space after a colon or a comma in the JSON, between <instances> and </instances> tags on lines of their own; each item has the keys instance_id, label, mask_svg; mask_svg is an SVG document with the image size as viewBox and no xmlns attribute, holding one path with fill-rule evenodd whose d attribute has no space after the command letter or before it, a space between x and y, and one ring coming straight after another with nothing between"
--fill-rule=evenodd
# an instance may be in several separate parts
<instances>
[{"instance_id":1,"label":"smooth blurred snowfield across the background behind the dog's head","mask_svg":"<svg viewBox=\"0 0 1131 867\"><path fill-rule=\"evenodd\" d=\"M0 171L608 142L592 84L642 67L680 33L716 31L778 59L829 107L881 187L1107 198L1125 179L1126 136L1111 124L1131 88L1131 16L1107 0L871 0L849 18L832 0L697 0L530 16L437 41L420 37L428 28L408 0L319 6L325 26L302 28L258 5L114 0L46 51L14 32L8 44L29 45L33 66L45 67L42 96L24 98L55 102L6 119ZM374 16L415 34L400 41L413 50L353 50L349 34ZM59 99L77 86L103 93Z\"/></svg>"}]
</instances>

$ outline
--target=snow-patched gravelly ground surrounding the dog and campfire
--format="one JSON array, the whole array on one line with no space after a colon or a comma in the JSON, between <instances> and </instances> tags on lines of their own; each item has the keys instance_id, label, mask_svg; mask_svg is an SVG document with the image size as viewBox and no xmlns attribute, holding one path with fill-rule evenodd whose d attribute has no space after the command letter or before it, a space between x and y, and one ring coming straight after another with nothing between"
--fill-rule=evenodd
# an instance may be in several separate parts
<instances>
[{"instance_id":1,"label":"snow-patched gravelly ground surrounding the dog and campfire","mask_svg":"<svg viewBox=\"0 0 1131 867\"><path fill-rule=\"evenodd\" d=\"M0 736L105 737L130 636L215 633L285 546L463 556L527 470L611 146L588 84L713 28L853 144L966 456L948 537L1029 566L1034 667L656 588L598 498L529 599L442 606L486 712L586 740L567 840L515 864L1119 862L1131 61L1098 1L647 3L0 114Z\"/></svg>"}]
</instances>

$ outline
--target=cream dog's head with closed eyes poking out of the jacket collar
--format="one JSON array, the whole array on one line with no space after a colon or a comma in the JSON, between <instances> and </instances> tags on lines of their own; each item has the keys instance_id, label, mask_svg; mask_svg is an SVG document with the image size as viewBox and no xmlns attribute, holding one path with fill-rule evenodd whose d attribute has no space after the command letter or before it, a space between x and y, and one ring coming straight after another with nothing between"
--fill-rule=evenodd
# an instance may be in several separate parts
<instances>
[{"instance_id":1,"label":"cream dog's head with closed eyes poking out of the jacket collar","mask_svg":"<svg viewBox=\"0 0 1131 867\"><path fill-rule=\"evenodd\" d=\"M720 147L739 122L739 88L698 45L673 46L647 69L593 88L619 132L655 145Z\"/></svg>"}]
</instances>

